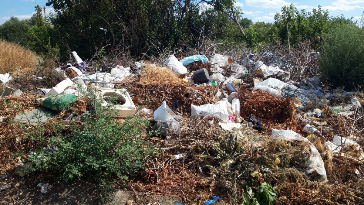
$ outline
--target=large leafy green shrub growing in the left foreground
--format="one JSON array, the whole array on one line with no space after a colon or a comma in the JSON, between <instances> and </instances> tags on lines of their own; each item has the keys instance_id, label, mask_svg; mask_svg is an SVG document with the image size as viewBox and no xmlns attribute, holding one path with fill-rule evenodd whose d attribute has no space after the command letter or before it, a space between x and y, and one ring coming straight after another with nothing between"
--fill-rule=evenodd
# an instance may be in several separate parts
<instances>
[{"instance_id":1,"label":"large leafy green shrub growing in the left foreground","mask_svg":"<svg viewBox=\"0 0 364 205\"><path fill-rule=\"evenodd\" d=\"M83 114L80 121L71 120L68 125L62 119L53 119L51 136L45 135L44 124L20 125L33 142L42 144L29 154L36 163L35 171L52 172L59 181L96 181L107 196L112 179L126 180L154 153L145 139L149 122L141 117L115 121L112 117L115 113L110 107L102 107L102 101L93 91L86 94L94 111ZM110 113L104 114L105 111ZM74 115L79 114L75 111Z\"/></svg>"}]
</instances>

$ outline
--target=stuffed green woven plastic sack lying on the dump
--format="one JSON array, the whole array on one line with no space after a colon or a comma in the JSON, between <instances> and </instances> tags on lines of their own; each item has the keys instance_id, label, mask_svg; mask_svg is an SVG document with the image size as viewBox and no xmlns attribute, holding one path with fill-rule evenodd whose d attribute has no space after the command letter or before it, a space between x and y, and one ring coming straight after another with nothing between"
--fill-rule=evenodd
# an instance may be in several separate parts
<instances>
[{"instance_id":1,"label":"stuffed green woven plastic sack lying on the dump","mask_svg":"<svg viewBox=\"0 0 364 205\"><path fill-rule=\"evenodd\" d=\"M63 111L67 109L68 106L76 100L77 97L74 94L56 95L37 99L40 105L55 111Z\"/></svg>"}]
</instances>

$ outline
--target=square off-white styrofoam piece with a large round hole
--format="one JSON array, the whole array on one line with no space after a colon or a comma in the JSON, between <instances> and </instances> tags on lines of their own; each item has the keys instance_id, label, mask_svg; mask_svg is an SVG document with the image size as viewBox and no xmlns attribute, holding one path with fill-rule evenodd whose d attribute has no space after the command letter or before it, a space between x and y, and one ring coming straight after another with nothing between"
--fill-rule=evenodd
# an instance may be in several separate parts
<instances>
[{"instance_id":1,"label":"square off-white styrofoam piece with a large round hole","mask_svg":"<svg viewBox=\"0 0 364 205\"><path fill-rule=\"evenodd\" d=\"M122 98L123 101L125 101L122 105L113 105L111 109L116 111L116 115L113 117L131 117L137 112L137 108L134 105L134 102L131 100L131 97L128 92L126 92L126 89L112 89L112 88L98 88L98 92L96 92L97 97L103 97L103 96L119 96ZM108 106L110 103L104 102L101 104L102 106ZM113 112L110 111L104 111L104 114Z\"/></svg>"}]
</instances>

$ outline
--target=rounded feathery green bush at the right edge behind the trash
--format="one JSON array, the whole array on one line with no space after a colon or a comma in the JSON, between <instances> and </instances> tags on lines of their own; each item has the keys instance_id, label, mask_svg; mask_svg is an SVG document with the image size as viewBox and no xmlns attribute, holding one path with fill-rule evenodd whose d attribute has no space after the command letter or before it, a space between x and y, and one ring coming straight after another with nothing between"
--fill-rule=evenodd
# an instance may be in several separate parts
<instances>
[{"instance_id":1,"label":"rounded feathery green bush at the right edge behind the trash","mask_svg":"<svg viewBox=\"0 0 364 205\"><path fill-rule=\"evenodd\" d=\"M364 31L353 24L337 24L323 41L321 71L335 86L364 84Z\"/></svg>"}]
</instances>

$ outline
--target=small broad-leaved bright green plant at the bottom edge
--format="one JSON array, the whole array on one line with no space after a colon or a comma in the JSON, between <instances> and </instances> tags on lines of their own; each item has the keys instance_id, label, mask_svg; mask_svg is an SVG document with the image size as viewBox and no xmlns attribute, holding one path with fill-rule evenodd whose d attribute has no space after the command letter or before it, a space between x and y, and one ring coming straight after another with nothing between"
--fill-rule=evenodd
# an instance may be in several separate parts
<instances>
[{"instance_id":1,"label":"small broad-leaved bright green plant at the bottom edge","mask_svg":"<svg viewBox=\"0 0 364 205\"><path fill-rule=\"evenodd\" d=\"M253 193L251 187L246 186L246 194L242 194L243 203L241 205L271 205L275 200L277 200L276 192L274 192L274 187L268 183L262 183L257 191Z\"/></svg>"}]
</instances>

